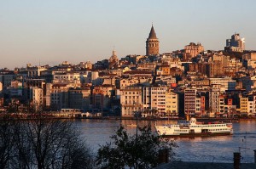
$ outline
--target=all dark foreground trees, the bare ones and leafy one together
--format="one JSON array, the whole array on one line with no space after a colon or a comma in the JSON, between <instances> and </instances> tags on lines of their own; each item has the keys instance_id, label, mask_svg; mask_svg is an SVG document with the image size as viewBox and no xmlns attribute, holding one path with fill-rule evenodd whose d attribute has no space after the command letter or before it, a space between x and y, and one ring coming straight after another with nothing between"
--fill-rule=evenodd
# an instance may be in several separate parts
<instances>
[{"instance_id":1,"label":"all dark foreground trees, the bare ones and leafy one together","mask_svg":"<svg viewBox=\"0 0 256 169\"><path fill-rule=\"evenodd\" d=\"M165 149L173 158L177 145L154 135L151 127L138 127L129 135L120 126L111 137L113 142L102 145L93 155L72 121L46 118L38 113L34 119L0 120L1 169L123 169L152 168L159 164Z\"/></svg>"}]
</instances>

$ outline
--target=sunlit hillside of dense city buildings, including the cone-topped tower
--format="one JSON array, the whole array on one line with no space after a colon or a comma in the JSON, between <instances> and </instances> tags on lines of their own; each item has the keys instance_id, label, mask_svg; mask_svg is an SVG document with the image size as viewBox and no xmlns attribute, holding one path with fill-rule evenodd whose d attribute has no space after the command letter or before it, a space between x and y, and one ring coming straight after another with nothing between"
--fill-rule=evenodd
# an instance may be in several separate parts
<instances>
[{"instance_id":1,"label":"sunlit hillside of dense city buildings, including the cone-topped tower","mask_svg":"<svg viewBox=\"0 0 256 169\"><path fill-rule=\"evenodd\" d=\"M235 33L224 50L190 42L160 54L152 25L146 55L72 65L0 70L0 110L79 110L104 115L234 117L256 115L256 52Z\"/></svg>"}]
</instances>

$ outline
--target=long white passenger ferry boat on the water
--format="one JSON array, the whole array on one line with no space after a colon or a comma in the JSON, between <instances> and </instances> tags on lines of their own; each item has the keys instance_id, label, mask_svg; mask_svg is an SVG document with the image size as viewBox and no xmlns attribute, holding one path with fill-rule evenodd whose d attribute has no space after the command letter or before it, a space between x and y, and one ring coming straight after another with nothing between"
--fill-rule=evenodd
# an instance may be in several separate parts
<instances>
[{"instance_id":1,"label":"long white passenger ferry boat on the water","mask_svg":"<svg viewBox=\"0 0 256 169\"><path fill-rule=\"evenodd\" d=\"M233 134L232 123L201 123L195 118L190 121L177 121L177 124L154 126L156 132L163 137L196 137L196 136L222 136Z\"/></svg>"}]
</instances>

